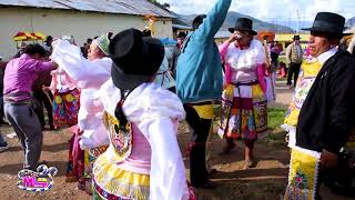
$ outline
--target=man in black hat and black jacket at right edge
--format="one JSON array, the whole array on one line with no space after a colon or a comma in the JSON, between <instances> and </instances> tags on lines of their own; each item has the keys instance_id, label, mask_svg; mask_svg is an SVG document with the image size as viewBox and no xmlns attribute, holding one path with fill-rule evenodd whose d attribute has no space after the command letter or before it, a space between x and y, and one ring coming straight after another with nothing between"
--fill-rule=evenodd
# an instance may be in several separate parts
<instances>
[{"instance_id":1,"label":"man in black hat and black jacket at right edge","mask_svg":"<svg viewBox=\"0 0 355 200\"><path fill-rule=\"evenodd\" d=\"M310 53L318 63L314 68L322 67L301 98L285 199L320 199L321 177L337 168L341 148L354 130L355 59L336 48L344 23L342 16L320 12L313 27L304 29L311 31Z\"/></svg>"}]
</instances>

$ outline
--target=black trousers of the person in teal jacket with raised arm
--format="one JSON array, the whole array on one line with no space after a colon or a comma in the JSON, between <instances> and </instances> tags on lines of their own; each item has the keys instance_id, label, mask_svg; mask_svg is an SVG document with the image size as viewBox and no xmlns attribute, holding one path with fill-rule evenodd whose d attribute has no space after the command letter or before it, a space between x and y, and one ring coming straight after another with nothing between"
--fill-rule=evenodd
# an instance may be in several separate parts
<instances>
[{"instance_id":1,"label":"black trousers of the person in teal jacket with raised arm","mask_svg":"<svg viewBox=\"0 0 355 200\"><path fill-rule=\"evenodd\" d=\"M184 109L186 121L193 130L190 149L190 180L192 186L200 187L209 176L205 152L212 120L200 118L196 110L190 104L184 104Z\"/></svg>"}]
</instances>

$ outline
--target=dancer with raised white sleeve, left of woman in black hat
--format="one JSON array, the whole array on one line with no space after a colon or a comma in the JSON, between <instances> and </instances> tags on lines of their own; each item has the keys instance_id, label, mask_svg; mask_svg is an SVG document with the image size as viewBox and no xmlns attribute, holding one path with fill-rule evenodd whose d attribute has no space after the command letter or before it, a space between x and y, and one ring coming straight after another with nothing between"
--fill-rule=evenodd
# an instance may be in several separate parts
<instances>
[{"instance_id":1,"label":"dancer with raised white sleeve, left of woman in black hat","mask_svg":"<svg viewBox=\"0 0 355 200\"><path fill-rule=\"evenodd\" d=\"M79 148L79 132L71 139L69 151L68 176L72 181L85 184L87 191L91 191L91 170L95 159L105 151L109 142L87 144L91 137L106 136L102 118L103 109L97 106L99 97L95 91L110 78L112 60L108 58L110 40L106 36L101 36L93 40L85 59L81 49L70 44L65 40L58 40L53 43L52 59L55 60L65 74L73 80L73 84L81 91L80 110L78 114L78 127L81 136L81 147ZM103 137L104 138L104 137ZM77 167L81 167L78 169ZM82 170L83 169L83 170ZM83 186L80 188L83 189Z\"/></svg>"}]
</instances>

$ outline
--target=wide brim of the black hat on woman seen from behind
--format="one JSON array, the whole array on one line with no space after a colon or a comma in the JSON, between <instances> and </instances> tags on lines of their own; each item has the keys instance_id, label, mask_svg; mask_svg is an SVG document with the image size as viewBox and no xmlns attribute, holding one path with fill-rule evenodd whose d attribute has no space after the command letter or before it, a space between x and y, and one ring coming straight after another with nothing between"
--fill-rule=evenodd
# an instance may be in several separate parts
<instances>
[{"instance_id":1,"label":"wide brim of the black hat on woman seen from behind","mask_svg":"<svg viewBox=\"0 0 355 200\"><path fill-rule=\"evenodd\" d=\"M161 63L163 62L163 59L164 59L164 46L162 44L162 42L158 39L150 38L150 37L143 37L143 41L148 44L148 51L146 51L148 53L144 56L144 58L138 58L138 59L142 59L141 60L142 66L153 64L154 72L152 72L151 74L129 74L129 73L124 73L124 71L116 66L120 63L112 62L111 78L112 78L113 84L116 88L121 90L133 90L134 88L139 87L143 82L150 82L152 80L152 77L158 72L159 68L161 67Z\"/></svg>"}]
</instances>

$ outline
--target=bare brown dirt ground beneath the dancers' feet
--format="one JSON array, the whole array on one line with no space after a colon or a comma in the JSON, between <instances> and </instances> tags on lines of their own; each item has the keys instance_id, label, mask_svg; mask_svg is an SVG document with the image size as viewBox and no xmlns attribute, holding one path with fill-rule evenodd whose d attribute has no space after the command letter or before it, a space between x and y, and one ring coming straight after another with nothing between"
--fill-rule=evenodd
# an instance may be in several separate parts
<instances>
[{"instance_id":1,"label":"bare brown dirt ground beneath the dancers' feet","mask_svg":"<svg viewBox=\"0 0 355 200\"><path fill-rule=\"evenodd\" d=\"M278 87L278 101L276 107L286 107L291 100L292 91ZM12 132L11 127L1 127L3 136ZM243 170L243 146L237 142L236 149L231 154L221 156L223 141L214 136L211 143L209 166L217 172L212 181L217 184L214 190L197 190L202 200L278 200L282 199L288 173L290 152L284 142L285 133L273 131L272 137L257 141L255 147L256 167ZM17 139L6 138L10 149L0 153L0 200L14 199L75 199L89 200L90 196L77 189L75 183L67 183L65 170L68 158L68 140L70 133L65 131L44 131L41 160L49 167L57 167L59 173L54 177L54 187L45 193L29 193L17 188L17 173L22 168L23 151ZM179 143L183 156L190 141L187 126L183 122L179 130ZM186 176L189 177L189 159L184 158ZM343 199L327 196L325 199Z\"/></svg>"}]
</instances>

